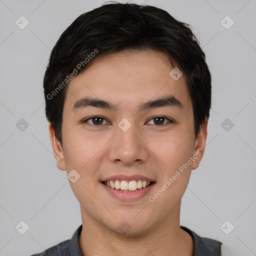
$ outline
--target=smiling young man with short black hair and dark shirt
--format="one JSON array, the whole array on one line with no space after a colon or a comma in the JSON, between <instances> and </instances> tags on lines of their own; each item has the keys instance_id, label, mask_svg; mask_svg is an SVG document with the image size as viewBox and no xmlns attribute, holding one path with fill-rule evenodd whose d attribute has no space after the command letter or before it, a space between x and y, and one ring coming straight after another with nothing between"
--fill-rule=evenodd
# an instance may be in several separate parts
<instances>
[{"instance_id":1,"label":"smiling young man with short black hair and dark shirt","mask_svg":"<svg viewBox=\"0 0 256 256\"><path fill-rule=\"evenodd\" d=\"M207 137L211 77L187 24L147 5L77 17L52 49L45 111L82 225L34 255L220 255L180 226Z\"/></svg>"}]
</instances>

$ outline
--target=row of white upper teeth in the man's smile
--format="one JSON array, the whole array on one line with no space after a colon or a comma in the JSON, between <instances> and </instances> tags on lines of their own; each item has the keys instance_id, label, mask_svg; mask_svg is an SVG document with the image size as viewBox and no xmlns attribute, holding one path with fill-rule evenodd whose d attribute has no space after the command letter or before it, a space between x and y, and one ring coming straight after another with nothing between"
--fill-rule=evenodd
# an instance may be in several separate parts
<instances>
[{"instance_id":1,"label":"row of white upper teeth in the man's smile","mask_svg":"<svg viewBox=\"0 0 256 256\"><path fill-rule=\"evenodd\" d=\"M146 187L151 182L146 180L110 180L104 181L105 185L110 186L111 188L120 189L120 190L131 190L134 191L136 189L140 189L141 187Z\"/></svg>"}]
</instances>

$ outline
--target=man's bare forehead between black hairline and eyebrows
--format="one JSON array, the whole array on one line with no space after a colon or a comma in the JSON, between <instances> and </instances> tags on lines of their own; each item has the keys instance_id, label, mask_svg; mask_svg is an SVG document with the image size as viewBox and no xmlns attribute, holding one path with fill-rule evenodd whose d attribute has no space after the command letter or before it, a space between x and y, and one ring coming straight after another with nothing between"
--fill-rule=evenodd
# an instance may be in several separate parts
<instances>
[{"instance_id":1,"label":"man's bare forehead between black hairline and eyebrows","mask_svg":"<svg viewBox=\"0 0 256 256\"><path fill-rule=\"evenodd\" d=\"M155 50L121 51L97 56L67 85L64 107L84 96L98 97L122 107L173 95L185 108L191 106L184 75L177 80L167 55ZM140 104L141 105L141 104Z\"/></svg>"}]
</instances>

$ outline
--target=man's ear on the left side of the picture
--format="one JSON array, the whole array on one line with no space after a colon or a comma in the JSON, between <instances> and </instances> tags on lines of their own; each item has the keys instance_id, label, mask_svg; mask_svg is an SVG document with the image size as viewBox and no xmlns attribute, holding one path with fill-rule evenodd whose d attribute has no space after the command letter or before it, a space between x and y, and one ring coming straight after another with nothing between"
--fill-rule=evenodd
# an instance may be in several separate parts
<instances>
[{"instance_id":1,"label":"man's ear on the left side of the picture","mask_svg":"<svg viewBox=\"0 0 256 256\"><path fill-rule=\"evenodd\" d=\"M54 153L54 156L57 160L57 167L60 170L65 170L65 161L64 161L64 154L62 150L62 146L60 145L59 140L57 139L55 135L55 131L49 122L49 133L50 133L50 142L51 142L51 147Z\"/></svg>"}]
</instances>

